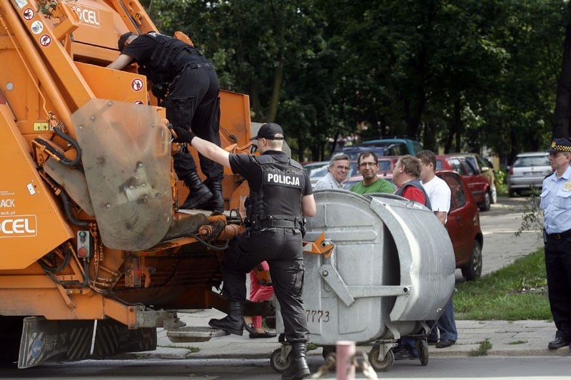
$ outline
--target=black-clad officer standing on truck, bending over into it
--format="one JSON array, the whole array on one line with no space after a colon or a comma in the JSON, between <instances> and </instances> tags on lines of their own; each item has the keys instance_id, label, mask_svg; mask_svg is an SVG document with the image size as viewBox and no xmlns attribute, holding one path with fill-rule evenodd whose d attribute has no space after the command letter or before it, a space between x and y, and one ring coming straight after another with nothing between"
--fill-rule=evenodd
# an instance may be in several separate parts
<instances>
[{"instance_id":1,"label":"black-clad officer standing on truck, bending over into it","mask_svg":"<svg viewBox=\"0 0 571 380\"><path fill-rule=\"evenodd\" d=\"M108 68L121 70L136 61L139 73L153 81L153 94L163 100L168 121L220 146L220 83L198 49L155 32L123 34L118 48L121 54ZM178 178L191 190L181 208L223 211L222 165L200 155L205 186L186 147L173 158Z\"/></svg>"}]
</instances>

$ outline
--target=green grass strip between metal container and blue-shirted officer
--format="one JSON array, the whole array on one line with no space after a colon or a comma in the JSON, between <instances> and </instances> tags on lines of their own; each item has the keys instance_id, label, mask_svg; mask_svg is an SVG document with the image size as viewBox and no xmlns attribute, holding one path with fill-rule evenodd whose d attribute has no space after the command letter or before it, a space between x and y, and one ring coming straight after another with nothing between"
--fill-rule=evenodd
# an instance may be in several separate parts
<instances>
[{"instance_id":1,"label":"green grass strip between metal container and blue-shirted officer","mask_svg":"<svg viewBox=\"0 0 571 380\"><path fill-rule=\"evenodd\" d=\"M458 284L456 319L552 319L543 248L475 281Z\"/></svg>"}]
</instances>

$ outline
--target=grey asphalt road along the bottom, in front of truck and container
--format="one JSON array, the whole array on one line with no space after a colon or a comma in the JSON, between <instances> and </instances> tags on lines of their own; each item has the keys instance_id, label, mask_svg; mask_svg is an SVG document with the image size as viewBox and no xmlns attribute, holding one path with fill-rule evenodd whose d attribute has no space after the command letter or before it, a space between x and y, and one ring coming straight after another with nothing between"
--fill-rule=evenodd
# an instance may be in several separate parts
<instances>
[{"instance_id":1,"label":"grey asphalt road along the bottom, in front of truck and container","mask_svg":"<svg viewBox=\"0 0 571 380\"><path fill-rule=\"evenodd\" d=\"M313 374L323 364L320 356L309 359ZM427 366L416 360L397 361L379 379L571 379L570 359L557 357L463 357L430 359ZM1 369L7 379L252 379L278 380L281 375L267 359L127 360L81 361L50 364L26 370ZM359 371L357 379L366 379ZM323 379L335 379L329 372Z\"/></svg>"}]
</instances>

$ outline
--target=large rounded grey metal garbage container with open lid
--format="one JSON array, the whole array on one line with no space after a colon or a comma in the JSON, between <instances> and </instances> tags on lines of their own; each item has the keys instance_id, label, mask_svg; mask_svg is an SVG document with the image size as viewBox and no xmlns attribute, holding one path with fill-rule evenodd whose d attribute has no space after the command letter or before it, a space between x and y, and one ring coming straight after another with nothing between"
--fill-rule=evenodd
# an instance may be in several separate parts
<instances>
[{"instance_id":1,"label":"large rounded grey metal garbage container with open lid","mask_svg":"<svg viewBox=\"0 0 571 380\"><path fill-rule=\"evenodd\" d=\"M346 190L318 190L315 201L304 240L325 232L335 248L328 258L303 257L310 342L394 341L440 317L454 291L455 259L431 210L397 195ZM392 346L381 348L383 358Z\"/></svg>"}]
</instances>

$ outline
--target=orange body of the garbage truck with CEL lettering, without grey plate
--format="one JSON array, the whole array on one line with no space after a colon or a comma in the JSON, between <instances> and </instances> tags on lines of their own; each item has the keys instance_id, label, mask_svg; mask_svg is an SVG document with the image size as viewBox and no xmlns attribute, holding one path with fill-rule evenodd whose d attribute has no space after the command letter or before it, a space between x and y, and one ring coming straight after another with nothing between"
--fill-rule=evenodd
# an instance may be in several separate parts
<instances>
[{"instance_id":1,"label":"orange body of the garbage truck with CEL lettering, without grey plate","mask_svg":"<svg viewBox=\"0 0 571 380\"><path fill-rule=\"evenodd\" d=\"M161 167L169 190L158 195L172 199L172 225L193 228L156 248L133 252L106 247L97 217L79 206L91 205L90 195L94 197L86 163L66 162L79 158L84 148L74 145L83 126L73 120L86 105L98 99L142 105L166 123L165 110L134 65L125 71L106 68L118 56L116 43L126 31L156 31L136 0L59 1L51 17L38 12L36 1L0 3L0 320L112 318L134 329L141 310L130 304L188 309L220 302L211 294L211 287L221 283L220 250L202 245L194 234L207 226L208 243L223 246L226 237L241 231L241 221L228 220L228 213L176 212L188 189L176 180L172 162ZM248 96L221 91L220 97L221 145L247 153ZM164 145L164 132L159 135L158 143ZM191 153L198 163L196 151ZM54 164L51 171L49 162ZM116 165L121 172L121 165L136 164ZM74 194L82 190L90 195L78 199ZM247 193L243 178L226 168L226 210L243 209ZM101 205L93 206L98 210Z\"/></svg>"}]
</instances>

